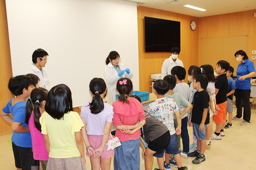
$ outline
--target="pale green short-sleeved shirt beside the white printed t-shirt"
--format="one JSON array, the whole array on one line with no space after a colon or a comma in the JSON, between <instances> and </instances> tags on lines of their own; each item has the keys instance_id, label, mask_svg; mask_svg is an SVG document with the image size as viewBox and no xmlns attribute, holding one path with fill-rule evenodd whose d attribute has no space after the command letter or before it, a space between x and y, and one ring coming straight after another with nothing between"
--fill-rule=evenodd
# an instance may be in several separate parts
<instances>
[{"instance_id":1,"label":"pale green short-sleeved shirt beside the white printed t-shirt","mask_svg":"<svg viewBox=\"0 0 256 170\"><path fill-rule=\"evenodd\" d=\"M175 102L179 108L180 114L185 110L185 107L189 104L188 100L186 100L180 93L177 93L177 92L173 93L172 95L165 94L164 96L175 100ZM183 117L181 117L181 119L183 119L187 116L188 116L188 113L183 115ZM176 119L176 118L174 118L174 119Z\"/></svg>"}]
</instances>

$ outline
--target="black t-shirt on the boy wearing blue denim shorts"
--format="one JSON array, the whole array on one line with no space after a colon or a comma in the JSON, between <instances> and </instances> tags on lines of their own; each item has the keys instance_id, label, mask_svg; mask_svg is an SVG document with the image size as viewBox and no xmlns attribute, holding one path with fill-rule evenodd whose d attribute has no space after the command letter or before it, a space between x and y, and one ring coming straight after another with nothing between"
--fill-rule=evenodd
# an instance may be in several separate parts
<instances>
[{"instance_id":1,"label":"black t-shirt on the boy wearing blue denim shorts","mask_svg":"<svg viewBox=\"0 0 256 170\"><path fill-rule=\"evenodd\" d=\"M205 108L208 109L208 112L207 112L207 117L204 124L206 125L210 122L209 103L210 103L210 98L206 90L203 90L200 92L197 91L194 94L192 117L191 117L192 123L201 124L203 112Z\"/></svg>"}]
</instances>

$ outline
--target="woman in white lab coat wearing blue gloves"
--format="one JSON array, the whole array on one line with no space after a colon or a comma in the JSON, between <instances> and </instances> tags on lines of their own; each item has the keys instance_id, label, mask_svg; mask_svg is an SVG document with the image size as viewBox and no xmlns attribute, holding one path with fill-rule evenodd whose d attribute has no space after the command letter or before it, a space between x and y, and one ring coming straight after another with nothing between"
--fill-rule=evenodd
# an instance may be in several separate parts
<instances>
[{"instance_id":1,"label":"woman in white lab coat wearing blue gloves","mask_svg":"<svg viewBox=\"0 0 256 170\"><path fill-rule=\"evenodd\" d=\"M124 64L119 63L120 56L116 51L111 51L106 59L106 67L104 69L104 76L108 88L109 100L114 102L116 100L116 83L121 77L132 78L133 72Z\"/></svg>"}]
</instances>

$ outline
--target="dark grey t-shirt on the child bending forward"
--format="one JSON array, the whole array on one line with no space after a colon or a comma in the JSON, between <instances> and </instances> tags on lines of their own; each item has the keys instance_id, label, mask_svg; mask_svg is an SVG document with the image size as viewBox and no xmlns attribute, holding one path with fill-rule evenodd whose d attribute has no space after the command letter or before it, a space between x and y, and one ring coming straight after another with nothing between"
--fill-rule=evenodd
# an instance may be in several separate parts
<instances>
[{"instance_id":1,"label":"dark grey t-shirt on the child bending forward","mask_svg":"<svg viewBox=\"0 0 256 170\"><path fill-rule=\"evenodd\" d=\"M145 137L145 142L149 143L149 141L155 140L159 138L161 135L166 133L168 128L161 121L157 120L155 117L151 116L147 111L145 111L146 123L143 126L143 132ZM140 129L141 137L143 138L142 128Z\"/></svg>"}]
</instances>

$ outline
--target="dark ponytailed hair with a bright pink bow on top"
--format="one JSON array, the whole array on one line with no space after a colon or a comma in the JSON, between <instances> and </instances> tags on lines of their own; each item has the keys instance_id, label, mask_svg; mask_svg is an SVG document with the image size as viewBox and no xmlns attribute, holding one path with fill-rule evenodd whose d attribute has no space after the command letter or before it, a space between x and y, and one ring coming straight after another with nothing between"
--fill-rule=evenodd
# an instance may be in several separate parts
<instances>
[{"instance_id":1,"label":"dark ponytailed hair with a bright pink bow on top","mask_svg":"<svg viewBox=\"0 0 256 170\"><path fill-rule=\"evenodd\" d=\"M125 94L130 94L132 91L132 81L128 78L121 78L117 81L116 89L119 92L120 96L118 98L119 101L125 102L129 104L127 100L127 96Z\"/></svg>"}]
</instances>

